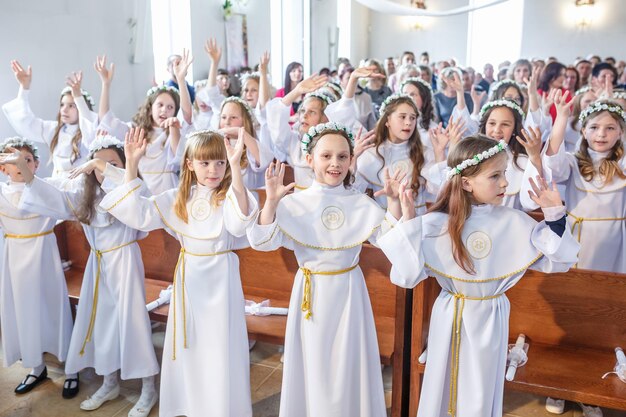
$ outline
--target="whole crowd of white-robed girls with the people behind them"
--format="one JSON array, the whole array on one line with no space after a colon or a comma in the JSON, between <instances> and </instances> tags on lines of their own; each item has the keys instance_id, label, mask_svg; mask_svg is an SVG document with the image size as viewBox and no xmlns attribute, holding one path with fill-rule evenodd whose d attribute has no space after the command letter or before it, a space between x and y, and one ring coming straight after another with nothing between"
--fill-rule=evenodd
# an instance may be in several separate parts
<instances>
[{"instance_id":1,"label":"whole crowd of white-robed girls with the people behind them","mask_svg":"<svg viewBox=\"0 0 626 417\"><path fill-rule=\"evenodd\" d=\"M65 362L65 398L78 394L83 369L103 376L83 410L119 395L119 371L142 380L130 417L157 401L162 416L252 416L233 251L285 247L299 269L281 417L385 416L359 268L370 242L391 260L394 284L432 276L442 288L418 416L500 417L506 291L529 268L626 273L622 61L520 59L498 80L490 64L481 75L431 66L427 53L418 64L405 52L397 68L342 59L328 75L305 76L294 62L272 94L265 53L234 96L221 47L209 39L205 51L206 81L188 85L189 52L172 55L172 79L147 91L131 122L110 109L115 67L105 56L94 65L97 111L75 72L55 121L33 114L32 69L11 62L19 90L2 109L19 136L0 145L0 325L5 366L32 368L16 393L45 380L47 352ZM49 178L36 176L34 142L50 149ZM544 221L524 213L535 209ZM70 219L91 248L74 324L53 233ZM137 244L156 229L181 247L159 394ZM547 408L562 412L562 401Z\"/></svg>"}]
</instances>

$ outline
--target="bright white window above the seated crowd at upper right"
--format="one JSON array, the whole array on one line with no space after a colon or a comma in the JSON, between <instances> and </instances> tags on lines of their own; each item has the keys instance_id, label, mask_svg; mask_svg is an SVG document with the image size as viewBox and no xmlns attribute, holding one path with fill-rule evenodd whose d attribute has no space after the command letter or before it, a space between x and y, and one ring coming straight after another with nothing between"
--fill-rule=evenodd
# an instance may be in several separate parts
<instances>
[{"instance_id":1,"label":"bright white window above the seated crowd at upper right","mask_svg":"<svg viewBox=\"0 0 626 417\"><path fill-rule=\"evenodd\" d=\"M488 0L471 0L471 5ZM482 72L485 64L495 68L502 61L515 61L522 50L524 0L510 0L469 13L467 62Z\"/></svg>"}]
</instances>

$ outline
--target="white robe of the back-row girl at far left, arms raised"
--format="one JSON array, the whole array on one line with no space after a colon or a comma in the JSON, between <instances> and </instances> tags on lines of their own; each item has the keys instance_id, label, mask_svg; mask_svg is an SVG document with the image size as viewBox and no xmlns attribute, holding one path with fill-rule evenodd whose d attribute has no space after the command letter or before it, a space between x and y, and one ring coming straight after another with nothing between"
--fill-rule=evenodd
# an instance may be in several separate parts
<instances>
[{"instance_id":1,"label":"white robe of the back-row girl at far left, arms raised","mask_svg":"<svg viewBox=\"0 0 626 417\"><path fill-rule=\"evenodd\" d=\"M18 135L35 142L45 143L49 147L58 122L36 117L30 108L29 96L30 90L23 90L20 87L17 97L4 104L2 110ZM52 153L53 177L67 177L72 168L83 164L89 154L89 143L96 137L98 115L89 110L84 97L81 96L74 102L79 110L79 122L75 125L65 124L59 131L59 140ZM79 128L82 133L79 142L80 155L72 161L72 138Z\"/></svg>"}]
</instances>

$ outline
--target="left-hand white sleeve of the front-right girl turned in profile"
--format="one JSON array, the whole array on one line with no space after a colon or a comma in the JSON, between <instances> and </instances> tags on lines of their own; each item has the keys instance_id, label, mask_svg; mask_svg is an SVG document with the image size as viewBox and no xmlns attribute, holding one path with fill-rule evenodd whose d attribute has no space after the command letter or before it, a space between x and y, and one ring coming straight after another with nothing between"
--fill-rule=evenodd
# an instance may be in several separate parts
<instances>
[{"instance_id":1,"label":"left-hand white sleeve of the front-right girl turned in profile","mask_svg":"<svg viewBox=\"0 0 626 417\"><path fill-rule=\"evenodd\" d=\"M422 217L407 222L400 220L393 230L377 241L378 246L391 261L391 282L413 288L428 274L422 253Z\"/></svg>"}]
</instances>

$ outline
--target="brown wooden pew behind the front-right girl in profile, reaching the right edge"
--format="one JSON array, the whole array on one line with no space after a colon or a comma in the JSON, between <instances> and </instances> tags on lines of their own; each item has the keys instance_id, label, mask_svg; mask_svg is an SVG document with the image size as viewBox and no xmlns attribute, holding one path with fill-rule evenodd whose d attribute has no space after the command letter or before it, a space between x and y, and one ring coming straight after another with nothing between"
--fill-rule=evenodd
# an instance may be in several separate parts
<instances>
[{"instance_id":1,"label":"brown wooden pew behind the front-right girl in profile, reaching the right edge","mask_svg":"<svg viewBox=\"0 0 626 417\"><path fill-rule=\"evenodd\" d=\"M409 415L419 405L430 312L440 287L427 279L413 290ZM506 389L626 410L626 384L602 379L615 365L614 348L626 347L626 274L572 269L527 271L506 292L511 302L509 343L520 333L528 362Z\"/></svg>"}]
</instances>

